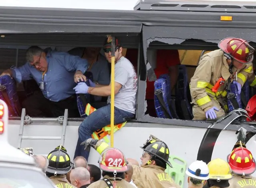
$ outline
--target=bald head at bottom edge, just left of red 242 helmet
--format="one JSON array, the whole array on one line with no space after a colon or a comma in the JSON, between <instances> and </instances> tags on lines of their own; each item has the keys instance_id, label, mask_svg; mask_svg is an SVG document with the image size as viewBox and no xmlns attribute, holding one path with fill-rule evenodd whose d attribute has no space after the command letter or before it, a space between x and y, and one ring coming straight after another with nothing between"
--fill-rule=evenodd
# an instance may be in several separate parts
<instances>
[{"instance_id":1,"label":"bald head at bottom edge, just left of red 242 helmet","mask_svg":"<svg viewBox=\"0 0 256 188\"><path fill-rule=\"evenodd\" d=\"M70 181L71 184L76 187L81 187L90 184L90 172L84 167L77 167L71 170Z\"/></svg>"}]
</instances>

